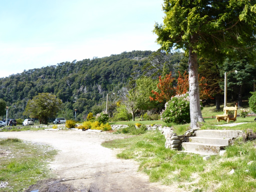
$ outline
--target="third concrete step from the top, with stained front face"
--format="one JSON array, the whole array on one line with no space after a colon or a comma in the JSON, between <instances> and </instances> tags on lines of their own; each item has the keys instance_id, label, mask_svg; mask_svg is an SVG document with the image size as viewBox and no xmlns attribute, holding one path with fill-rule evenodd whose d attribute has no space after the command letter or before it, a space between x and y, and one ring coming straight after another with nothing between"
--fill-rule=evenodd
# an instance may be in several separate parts
<instances>
[{"instance_id":1,"label":"third concrete step from the top, with stained front face","mask_svg":"<svg viewBox=\"0 0 256 192\"><path fill-rule=\"evenodd\" d=\"M202 152L207 153L208 155L218 155L220 150L225 146L216 145L216 144L204 144L204 143L193 143L193 142L184 142L182 147L185 151L191 151L193 153Z\"/></svg>"}]
</instances>

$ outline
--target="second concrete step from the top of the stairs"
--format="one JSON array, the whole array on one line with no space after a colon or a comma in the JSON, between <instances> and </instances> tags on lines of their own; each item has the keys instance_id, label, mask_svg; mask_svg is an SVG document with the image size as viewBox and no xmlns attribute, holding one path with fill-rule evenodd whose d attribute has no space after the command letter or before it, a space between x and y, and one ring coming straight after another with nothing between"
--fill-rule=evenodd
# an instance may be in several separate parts
<instances>
[{"instance_id":1,"label":"second concrete step from the top of the stairs","mask_svg":"<svg viewBox=\"0 0 256 192\"><path fill-rule=\"evenodd\" d=\"M204 143L204 144L218 144L223 146L228 146L230 138L218 138L218 137L189 137L189 142L193 143Z\"/></svg>"}]
</instances>

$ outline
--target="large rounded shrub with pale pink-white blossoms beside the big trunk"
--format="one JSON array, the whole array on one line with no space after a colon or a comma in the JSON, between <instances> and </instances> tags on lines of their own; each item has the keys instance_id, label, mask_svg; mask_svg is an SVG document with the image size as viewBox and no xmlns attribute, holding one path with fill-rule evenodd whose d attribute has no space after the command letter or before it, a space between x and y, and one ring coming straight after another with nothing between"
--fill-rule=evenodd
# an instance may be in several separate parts
<instances>
[{"instance_id":1,"label":"large rounded shrub with pale pink-white blossoms beside the big trunk","mask_svg":"<svg viewBox=\"0 0 256 192\"><path fill-rule=\"evenodd\" d=\"M185 124L190 122L188 93L175 95L165 103L161 113L161 120L165 123Z\"/></svg>"}]
</instances>

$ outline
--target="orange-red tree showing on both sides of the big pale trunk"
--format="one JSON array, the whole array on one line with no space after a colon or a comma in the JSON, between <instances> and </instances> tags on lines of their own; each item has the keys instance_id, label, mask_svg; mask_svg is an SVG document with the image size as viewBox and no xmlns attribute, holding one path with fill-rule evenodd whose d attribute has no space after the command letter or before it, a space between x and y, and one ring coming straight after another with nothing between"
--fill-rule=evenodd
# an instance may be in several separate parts
<instances>
[{"instance_id":1,"label":"orange-red tree showing on both sides of the big pale trunk","mask_svg":"<svg viewBox=\"0 0 256 192\"><path fill-rule=\"evenodd\" d=\"M183 76L179 73L179 78L177 80L177 86L174 88L176 91L176 94L183 94L189 91L189 83L188 83L188 74L186 74L187 72L185 71L185 73L183 74ZM206 78L205 77L201 77L201 79L199 79L199 75L198 75L198 84L199 84L199 95L200 95L200 99L207 99L207 98L211 98L210 96L210 89L207 87L207 82L206 82Z\"/></svg>"}]
</instances>

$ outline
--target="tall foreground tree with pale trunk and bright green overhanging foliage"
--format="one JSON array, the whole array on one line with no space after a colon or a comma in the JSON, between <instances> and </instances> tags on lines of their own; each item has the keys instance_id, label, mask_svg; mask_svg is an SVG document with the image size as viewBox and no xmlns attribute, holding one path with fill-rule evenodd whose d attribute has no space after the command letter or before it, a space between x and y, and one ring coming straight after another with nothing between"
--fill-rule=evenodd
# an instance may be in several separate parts
<instances>
[{"instance_id":1,"label":"tall foreground tree with pale trunk and bright green overhanging foliage","mask_svg":"<svg viewBox=\"0 0 256 192\"><path fill-rule=\"evenodd\" d=\"M183 49L189 56L190 126L194 128L204 121L197 57L211 56L221 62L225 55L255 53L255 1L165 0L163 10L164 24L155 24L156 41L165 51Z\"/></svg>"}]
</instances>

